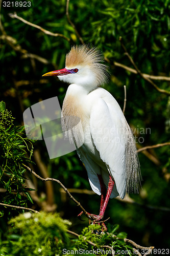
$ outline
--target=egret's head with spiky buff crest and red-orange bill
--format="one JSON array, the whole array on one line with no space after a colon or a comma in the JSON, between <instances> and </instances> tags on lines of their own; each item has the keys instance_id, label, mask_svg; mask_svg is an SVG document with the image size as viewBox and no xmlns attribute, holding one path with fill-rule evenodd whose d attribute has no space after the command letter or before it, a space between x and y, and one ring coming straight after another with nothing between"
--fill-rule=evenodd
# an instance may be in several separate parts
<instances>
[{"instance_id":1,"label":"egret's head with spiky buff crest and red-orange bill","mask_svg":"<svg viewBox=\"0 0 170 256\"><path fill-rule=\"evenodd\" d=\"M74 46L66 55L65 68L48 72L43 76L58 76L67 83L76 83L91 91L108 81L108 67L104 57L95 47Z\"/></svg>"}]
</instances>

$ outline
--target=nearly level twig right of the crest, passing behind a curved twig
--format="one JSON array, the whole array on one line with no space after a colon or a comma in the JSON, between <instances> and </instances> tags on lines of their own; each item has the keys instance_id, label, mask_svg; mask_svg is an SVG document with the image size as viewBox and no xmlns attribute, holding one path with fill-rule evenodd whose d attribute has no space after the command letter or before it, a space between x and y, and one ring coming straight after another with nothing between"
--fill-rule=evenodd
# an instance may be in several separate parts
<instances>
[{"instance_id":1,"label":"nearly level twig right of the crest, passing behind a curved twig","mask_svg":"<svg viewBox=\"0 0 170 256\"><path fill-rule=\"evenodd\" d=\"M132 68L130 68L130 67L128 67L128 66L126 66L122 63L119 63L119 62L116 62L116 61L114 61L113 63L114 63L114 66L116 66L116 67L126 69L129 72L134 73L134 74L138 74L138 72L135 69L132 69ZM168 82L170 81L170 77L168 77L168 76L154 76L154 75L149 75L149 74L145 74L145 73L142 73L142 75L144 77L148 77L152 80L162 80L162 81L168 81Z\"/></svg>"}]
</instances>

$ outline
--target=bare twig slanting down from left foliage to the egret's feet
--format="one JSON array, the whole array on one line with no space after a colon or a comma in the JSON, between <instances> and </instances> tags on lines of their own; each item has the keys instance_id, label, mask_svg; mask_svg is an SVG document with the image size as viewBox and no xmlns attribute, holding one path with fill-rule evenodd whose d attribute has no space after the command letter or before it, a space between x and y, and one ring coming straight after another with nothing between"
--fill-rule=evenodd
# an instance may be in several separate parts
<instances>
[{"instance_id":1,"label":"bare twig slanting down from left foliage to the egret's feet","mask_svg":"<svg viewBox=\"0 0 170 256\"><path fill-rule=\"evenodd\" d=\"M57 182L63 189L64 191L68 194L68 196L70 197L70 199L72 199L72 201L74 201L77 206L79 206L81 208L81 210L83 211L84 215L88 218L88 219L93 219L89 214L88 212L83 208L83 206L69 193L68 189L57 179L54 179L54 178L42 178L40 177L38 174L36 174L30 167L28 167L27 165L23 164L23 166L25 166L35 177L37 177L38 179L40 180L43 180L43 181L55 181Z\"/></svg>"}]
</instances>

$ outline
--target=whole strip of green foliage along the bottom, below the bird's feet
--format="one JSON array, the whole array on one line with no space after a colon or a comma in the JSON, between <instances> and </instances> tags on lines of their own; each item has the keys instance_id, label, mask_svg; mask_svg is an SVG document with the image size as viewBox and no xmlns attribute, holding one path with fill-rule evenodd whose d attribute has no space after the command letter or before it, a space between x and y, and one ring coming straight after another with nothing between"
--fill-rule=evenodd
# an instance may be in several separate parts
<instances>
[{"instance_id":1,"label":"whole strip of green foliage along the bottom, below the bird's feet","mask_svg":"<svg viewBox=\"0 0 170 256\"><path fill-rule=\"evenodd\" d=\"M6 240L0 240L2 256L52 256L52 255L98 255L111 254L111 247L115 255L135 255L132 246L124 242L124 237L115 232L101 232L99 225L85 227L78 238L67 233L71 223L63 220L59 214L40 212L31 214L26 212L9 221L10 228L6 233ZM95 233L98 230L98 233ZM89 243L90 241L90 243ZM105 247L106 246L106 247ZM126 253L125 253L126 252Z\"/></svg>"}]
</instances>

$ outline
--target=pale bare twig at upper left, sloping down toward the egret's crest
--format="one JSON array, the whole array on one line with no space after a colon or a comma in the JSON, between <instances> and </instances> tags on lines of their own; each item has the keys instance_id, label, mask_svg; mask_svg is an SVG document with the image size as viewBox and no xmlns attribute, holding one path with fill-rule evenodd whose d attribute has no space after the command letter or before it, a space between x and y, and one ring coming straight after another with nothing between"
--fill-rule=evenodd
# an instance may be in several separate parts
<instances>
[{"instance_id":1,"label":"pale bare twig at upper left, sloping down toward the egret's crest","mask_svg":"<svg viewBox=\"0 0 170 256\"><path fill-rule=\"evenodd\" d=\"M50 32L50 31L48 31L48 30L46 30L46 29L43 29L42 27L40 27L40 26L38 26L38 25L36 25L36 24L33 24L33 23L31 23L31 22L28 22L28 20L19 17L19 16L16 14L16 12L10 13L9 16L10 16L11 18L17 18L17 19L19 19L21 22L23 22L23 23L25 23L25 24L27 24L27 25L29 25L29 26L31 26L31 27L34 27L34 28L36 28L36 29L41 30L41 31L42 31L44 34L46 34L46 35L59 36L59 37L64 38L64 39L67 40L68 42L70 41L70 39L69 39L68 37L66 37L65 35L63 35L63 34Z\"/></svg>"}]
</instances>

